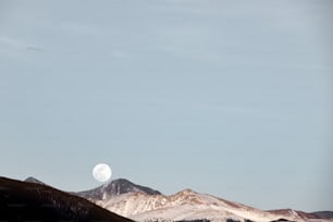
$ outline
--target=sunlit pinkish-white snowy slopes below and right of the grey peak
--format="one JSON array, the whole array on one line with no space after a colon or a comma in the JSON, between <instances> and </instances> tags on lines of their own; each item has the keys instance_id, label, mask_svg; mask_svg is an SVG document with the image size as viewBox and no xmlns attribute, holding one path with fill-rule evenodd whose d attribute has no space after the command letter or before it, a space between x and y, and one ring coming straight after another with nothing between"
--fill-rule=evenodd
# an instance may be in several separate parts
<instances>
[{"instance_id":1,"label":"sunlit pinkish-white snowy slopes below and right of the grey peak","mask_svg":"<svg viewBox=\"0 0 333 222\"><path fill-rule=\"evenodd\" d=\"M273 221L282 217L238 202L227 201L211 195L185 189L175 195L147 195L141 192L127 193L109 199L95 200L95 203L135 221L177 221L207 219L226 221ZM304 221L297 214L284 219Z\"/></svg>"}]
</instances>

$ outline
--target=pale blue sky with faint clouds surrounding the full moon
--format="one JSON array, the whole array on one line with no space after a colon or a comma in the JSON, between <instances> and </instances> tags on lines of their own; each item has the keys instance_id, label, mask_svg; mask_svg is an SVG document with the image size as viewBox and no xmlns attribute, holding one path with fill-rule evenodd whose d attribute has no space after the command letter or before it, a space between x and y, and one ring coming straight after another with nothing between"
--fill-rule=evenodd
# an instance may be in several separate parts
<instances>
[{"instance_id":1,"label":"pale blue sky with faint clouds surrounding the full moon","mask_svg":"<svg viewBox=\"0 0 333 222\"><path fill-rule=\"evenodd\" d=\"M0 1L0 175L333 210L330 0Z\"/></svg>"}]
</instances>

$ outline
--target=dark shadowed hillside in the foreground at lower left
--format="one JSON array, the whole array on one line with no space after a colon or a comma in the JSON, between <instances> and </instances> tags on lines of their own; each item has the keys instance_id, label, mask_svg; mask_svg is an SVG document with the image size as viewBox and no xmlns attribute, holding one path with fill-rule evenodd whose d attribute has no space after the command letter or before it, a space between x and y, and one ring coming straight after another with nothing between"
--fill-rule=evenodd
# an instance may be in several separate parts
<instances>
[{"instance_id":1,"label":"dark shadowed hillside in the foreground at lower left","mask_svg":"<svg viewBox=\"0 0 333 222\"><path fill-rule=\"evenodd\" d=\"M131 221L84 198L32 182L0 177L0 221Z\"/></svg>"}]
</instances>

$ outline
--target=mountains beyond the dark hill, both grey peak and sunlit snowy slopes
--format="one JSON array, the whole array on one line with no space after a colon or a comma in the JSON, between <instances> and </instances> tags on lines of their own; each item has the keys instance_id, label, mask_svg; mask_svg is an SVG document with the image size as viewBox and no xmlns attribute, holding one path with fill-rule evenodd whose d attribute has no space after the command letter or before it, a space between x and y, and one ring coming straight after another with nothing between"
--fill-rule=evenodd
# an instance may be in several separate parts
<instances>
[{"instance_id":1,"label":"mountains beyond the dark hill, both grey peak and sunlit snowy slopes","mask_svg":"<svg viewBox=\"0 0 333 222\"><path fill-rule=\"evenodd\" d=\"M192 189L165 196L124 178L76 195L135 221L333 221L333 212L262 211Z\"/></svg>"}]
</instances>

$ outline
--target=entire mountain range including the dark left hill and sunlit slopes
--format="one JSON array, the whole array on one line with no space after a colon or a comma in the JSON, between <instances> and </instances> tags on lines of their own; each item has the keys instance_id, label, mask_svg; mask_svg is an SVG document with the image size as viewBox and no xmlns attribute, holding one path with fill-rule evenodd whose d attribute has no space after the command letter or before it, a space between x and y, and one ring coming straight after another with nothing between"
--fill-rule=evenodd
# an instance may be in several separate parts
<instances>
[{"instance_id":1,"label":"entire mountain range including the dark left hill and sunlit slopes","mask_svg":"<svg viewBox=\"0 0 333 222\"><path fill-rule=\"evenodd\" d=\"M26 212L42 212L45 206L50 213L46 217L71 221L333 221L332 211L263 211L192 189L166 196L125 178L85 192L67 193L54 189L34 177L28 177L25 182L0 177L0 212L9 212L0 213L0 221L12 219L11 213L18 212L24 218ZM61 218L65 215L67 218ZM57 221L42 220L42 217L37 220Z\"/></svg>"}]
</instances>

